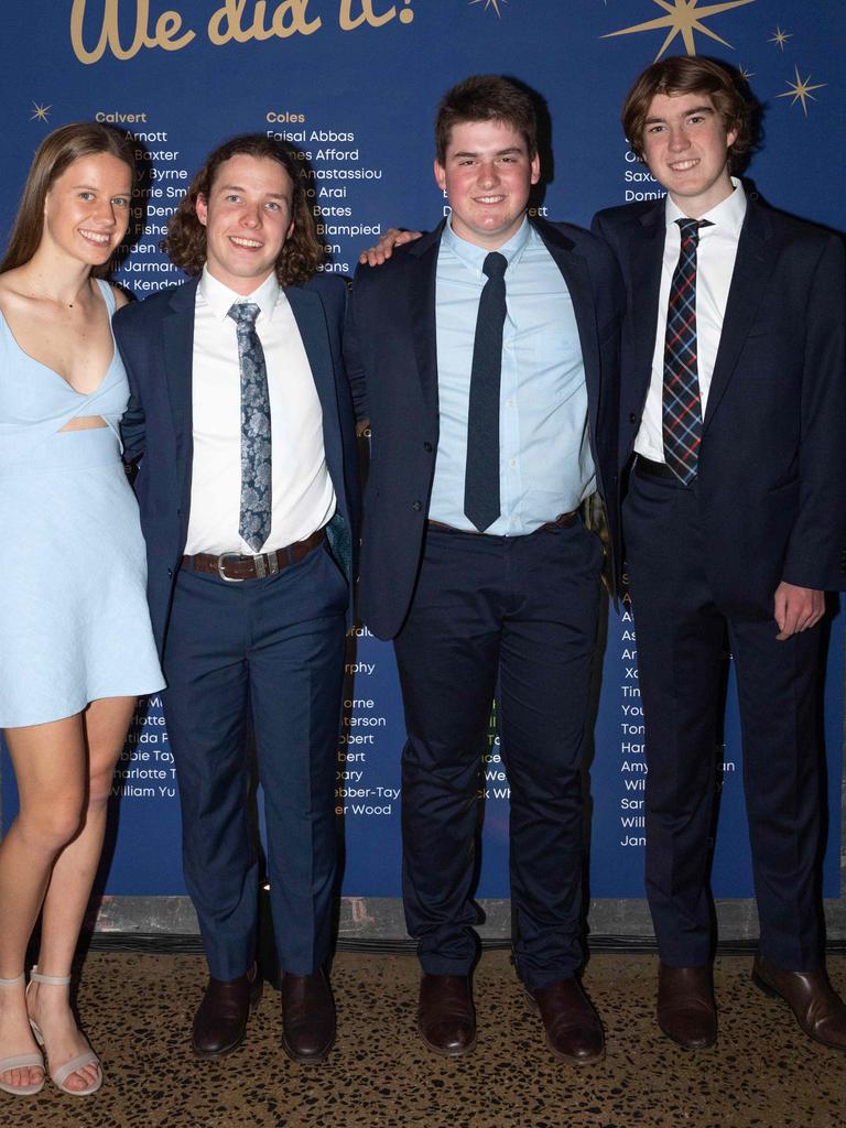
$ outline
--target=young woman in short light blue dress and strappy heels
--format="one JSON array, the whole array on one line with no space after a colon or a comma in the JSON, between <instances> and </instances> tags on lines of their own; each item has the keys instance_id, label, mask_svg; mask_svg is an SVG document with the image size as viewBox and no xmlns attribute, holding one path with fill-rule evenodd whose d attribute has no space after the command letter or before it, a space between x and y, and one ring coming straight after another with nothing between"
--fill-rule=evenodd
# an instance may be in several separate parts
<instances>
[{"instance_id":1,"label":"young woman in short light blue dress and strappy heels","mask_svg":"<svg viewBox=\"0 0 846 1128\"><path fill-rule=\"evenodd\" d=\"M18 1095L45 1074L77 1096L102 1084L71 963L135 699L162 686L117 432L129 388L111 317L125 298L102 277L132 158L105 126L50 134L0 263L0 729L20 800L0 845L0 1089Z\"/></svg>"}]
</instances>

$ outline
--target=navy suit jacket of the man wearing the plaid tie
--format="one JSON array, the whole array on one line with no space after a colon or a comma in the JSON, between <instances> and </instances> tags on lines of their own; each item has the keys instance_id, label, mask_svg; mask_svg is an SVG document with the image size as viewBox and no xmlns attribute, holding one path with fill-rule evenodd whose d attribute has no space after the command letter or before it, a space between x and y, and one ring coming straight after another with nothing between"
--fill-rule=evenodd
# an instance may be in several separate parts
<instances>
[{"instance_id":1,"label":"navy suit jacket of the man wearing the plaid tie","mask_svg":"<svg viewBox=\"0 0 846 1128\"><path fill-rule=\"evenodd\" d=\"M664 203L601 211L627 291L620 464L652 371ZM846 572L844 248L758 204L738 245L703 421L698 500L714 593L760 607L782 580L843 588Z\"/></svg>"}]
</instances>

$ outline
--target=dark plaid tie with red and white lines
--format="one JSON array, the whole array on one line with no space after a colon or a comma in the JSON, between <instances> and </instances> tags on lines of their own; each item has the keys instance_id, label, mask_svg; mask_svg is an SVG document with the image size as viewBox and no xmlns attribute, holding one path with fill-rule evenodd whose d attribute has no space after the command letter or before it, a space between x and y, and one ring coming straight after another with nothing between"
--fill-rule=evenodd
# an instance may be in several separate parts
<instances>
[{"instance_id":1,"label":"dark plaid tie with red and white lines","mask_svg":"<svg viewBox=\"0 0 846 1128\"><path fill-rule=\"evenodd\" d=\"M681 231L679 261L670 283L664 338L664 458L688 485L696 477L702 441L702 397L696 364L696 248L707 221L677 219Z\"/></svg>"}]
</instances>

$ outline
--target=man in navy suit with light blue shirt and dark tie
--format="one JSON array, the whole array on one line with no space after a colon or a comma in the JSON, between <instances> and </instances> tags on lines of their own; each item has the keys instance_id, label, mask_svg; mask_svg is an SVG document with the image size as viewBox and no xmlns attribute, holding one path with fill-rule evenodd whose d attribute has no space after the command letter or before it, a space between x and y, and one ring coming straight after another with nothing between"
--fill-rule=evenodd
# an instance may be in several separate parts
<instances>
[{"instance_id":1,"label":"man in navy suit with light blue shirt and dark tie","mask_svg":"<svg viewBox=\"0 0 846 1128\"><path fill-rule=\"evenodd\" d=\"M393 638L405 706L403 895L435 1052L476 1042L470 970L481 755L499 698L511 785L517 964L559 1058L596 1061L583 952L580 761L602 546L616 536L613 256L529 221L531 97L476 76L443 98L435 180L451 218L355 276L345 353L372 446L361 611Z\"/></svg>"}]
</instances>

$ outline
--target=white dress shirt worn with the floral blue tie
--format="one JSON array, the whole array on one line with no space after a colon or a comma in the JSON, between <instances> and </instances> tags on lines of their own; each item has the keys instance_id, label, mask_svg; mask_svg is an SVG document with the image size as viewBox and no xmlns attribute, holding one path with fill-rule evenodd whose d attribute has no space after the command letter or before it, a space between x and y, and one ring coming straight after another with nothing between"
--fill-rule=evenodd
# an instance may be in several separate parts
<instances>
[{"instance_id":1,"label":"white dress shirt worn with the floral blue tie","mask_svg":"<svg viewBox=\"0 0 846 1128\"><path fill-rule=\"evenodd\" d=\"M238 532L241 440L240 367L235 302L254 302L267 365L273 460L273 515L263 552L305 540L335 512L326 468L323 409L291 306L271 274L248 297L203 270L194 309L192 403L194 461L186 554L253 549Z\"/></svg>"}]
</instances>

